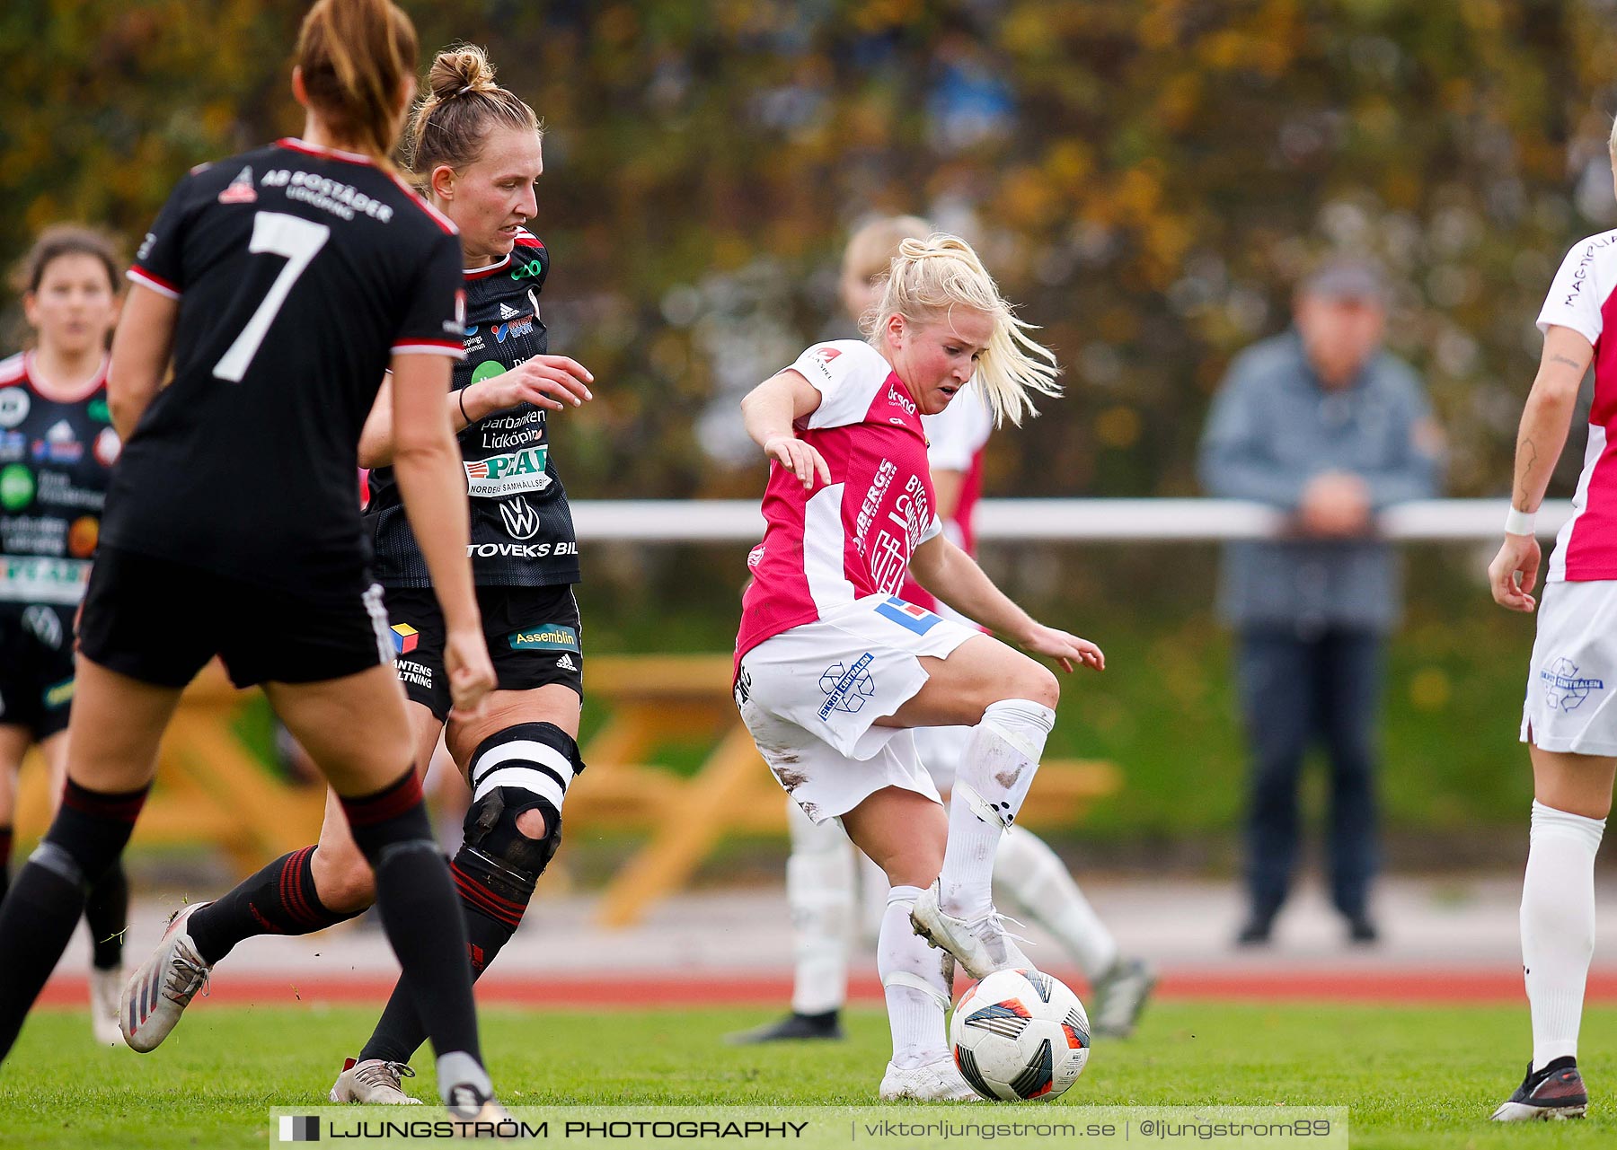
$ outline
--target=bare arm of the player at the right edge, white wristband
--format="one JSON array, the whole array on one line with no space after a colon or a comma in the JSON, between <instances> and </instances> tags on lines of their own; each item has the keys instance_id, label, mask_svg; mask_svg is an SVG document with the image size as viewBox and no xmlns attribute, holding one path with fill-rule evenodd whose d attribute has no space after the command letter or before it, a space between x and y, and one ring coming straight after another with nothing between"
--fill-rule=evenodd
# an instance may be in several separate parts
<instances>
[{"instance_id":1,"label":"bare arm of the player at the right edge, white wristband","mask_svg":"<svg viewBox=\"0 0 1617 1150\"><path fill-rule=\"evenodd\" d=\"M1544 502L1549 476L1567 446L1572 412L1578 405L1578 388L1590 370L1594 347L1572 328L1552 325L1544 333L1544 352L1538 362L1538 378L1522 409L1517 430L1515 478L1510 485L1510 509L1531 518ZM1514 515L1515 517L1515 515ZM1538 585L1543 556L1531 525L1523 533L1505 531L1499 554L1488 564L1488 586L1494 602L1507 611L1530 612L1538 606L1531 591Z\"/></svg>"}]
</instances>

